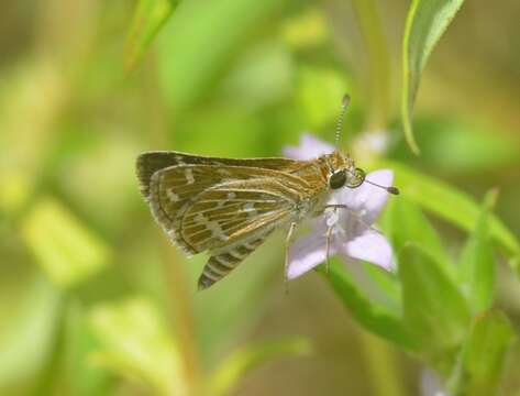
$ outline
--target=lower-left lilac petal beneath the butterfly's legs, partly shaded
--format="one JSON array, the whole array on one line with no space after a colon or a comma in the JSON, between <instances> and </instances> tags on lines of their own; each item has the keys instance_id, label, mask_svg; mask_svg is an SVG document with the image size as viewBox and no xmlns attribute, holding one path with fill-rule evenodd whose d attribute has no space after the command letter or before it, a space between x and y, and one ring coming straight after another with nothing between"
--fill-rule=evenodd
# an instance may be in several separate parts
<instances>
[{"instance_id":1,"label":"lower-left lilac petal beneath the butterfly's legs, partly shaded","mask_svg":"<svg viewBox=\"0 0 520 396\"><path fill-rule=\"evenodd\" d=\"M330 255L335 253L331 244ZM287 276L294 279L325 261L327 242L323 234L312 233L298 239L289 248L289 268Z\"/></svg>"}]
</instances>

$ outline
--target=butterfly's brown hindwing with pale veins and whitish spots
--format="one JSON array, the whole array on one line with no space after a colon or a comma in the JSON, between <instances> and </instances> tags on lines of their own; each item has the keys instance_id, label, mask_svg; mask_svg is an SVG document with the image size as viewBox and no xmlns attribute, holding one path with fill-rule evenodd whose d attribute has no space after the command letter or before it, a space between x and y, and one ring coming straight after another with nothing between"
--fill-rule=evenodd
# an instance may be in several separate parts
<instances>
[{"instance_id":1,"label":"butterfly's brown hindwing with pale veins and whitish spots","mask_svg":"<svg viewBox=\"0 0 520 396\"><path fill-rule=\"evenodd\" d=\"M168 237L196 254L278 221L301 199L297 191L305 187L303 179L272 169L176 165L153 174L147 200ZM255 216L251 205L258 205ZM210 210L211 220L202 218L204 210ZM222 227L230 230L228 240L219 233Z\"/></svg>"}]
</instances>

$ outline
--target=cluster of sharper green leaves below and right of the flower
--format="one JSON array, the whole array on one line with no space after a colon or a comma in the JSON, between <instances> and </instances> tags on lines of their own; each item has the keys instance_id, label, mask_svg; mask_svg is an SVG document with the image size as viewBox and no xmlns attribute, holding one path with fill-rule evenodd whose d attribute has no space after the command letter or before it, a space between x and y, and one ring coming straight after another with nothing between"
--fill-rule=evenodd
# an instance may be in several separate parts
<instances>
[{"instance_id":1,"label":"cluster of sharper green leaves below and right of the flower","mask_svg":"<svg viewBox=\"0 0 520 396\"><path fill-rule=\"evenodd\" d=\"M505 314L488 311L496 271L488 221L496 199L496 191L486 196L456 266L420 209L403 197L394 199L383 224L397 254L401 310L390 311L367 296L374 288L388 293L377 283L357 286L339 265L330 277L361 326L411 350L449 382L454 395L494 394L512 339Z\"/></svg>"}]
</instances>

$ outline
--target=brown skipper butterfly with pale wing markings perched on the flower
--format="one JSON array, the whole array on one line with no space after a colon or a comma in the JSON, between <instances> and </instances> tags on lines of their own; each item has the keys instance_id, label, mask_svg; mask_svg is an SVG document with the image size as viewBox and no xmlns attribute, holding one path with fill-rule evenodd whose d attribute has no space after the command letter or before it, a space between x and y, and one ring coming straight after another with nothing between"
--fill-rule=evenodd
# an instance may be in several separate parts
<instances>
[{"instance_id":1,"label":"brown skipper butterfly with pale wing markings perched on the flower","mask_svg":"<svg viewBox=\"0 0 520 396\"><path fill-rule=\"evenodd\" d=\"M199 289L228 275L275 230L287 229L289 244L303 219L329 208L348 209L327 205L333 190L370 183L339 151L309 161L145 152L136 174L153 217L174 244L188 256L209 252ZM378 187L398 194L395 187ZM286 274L287 264L288 249Z\"/></svg>"}]
</instances>

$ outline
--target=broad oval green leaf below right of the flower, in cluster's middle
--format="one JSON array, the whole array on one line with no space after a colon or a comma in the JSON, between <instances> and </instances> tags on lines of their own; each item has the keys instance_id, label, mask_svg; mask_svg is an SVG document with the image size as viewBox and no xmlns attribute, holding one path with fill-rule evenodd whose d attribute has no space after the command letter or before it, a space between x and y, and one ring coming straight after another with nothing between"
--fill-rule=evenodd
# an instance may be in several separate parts
<instances>
[{"instance_id":1,"label":"broad oval green leaf below right of the flower, in cluster's middle","mask_svg":"<svg viewBox=\"0 0 520 396\"><path fill-rule=\"evenodd\" d=\"M440 372L453 364L469 323L469 310L441 264L423 249L406 245L399 254L405 322L420 354Z\"/></svg>"}]
</instances>

